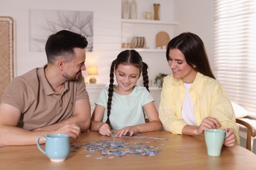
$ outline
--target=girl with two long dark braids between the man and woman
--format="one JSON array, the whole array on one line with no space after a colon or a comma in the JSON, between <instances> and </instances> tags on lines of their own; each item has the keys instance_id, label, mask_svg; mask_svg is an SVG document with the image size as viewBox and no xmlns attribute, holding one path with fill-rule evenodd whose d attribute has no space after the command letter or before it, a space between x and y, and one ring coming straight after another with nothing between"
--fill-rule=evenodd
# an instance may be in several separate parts
<instances>
[{"instance_id":1,"label":"girl with two long dark braids between the man and woman","mask_svg":"<svg viewBox=\"0 0 256 170\"><path fill-rule=\"evenodd\" d=\"M116 136L161 129L158 110L148 90L148 65L135 50L121 52L112 62L110 85L102 89L91 118L91 130L101 135ZM137 86L142 74L144 87ZM114 85L114 75L117 85ZM146 115L145 115L146 113ZM145 116L150 122L145 124ZM103 120L103 122L102 122Z\"/></svg>"}]
</instances>

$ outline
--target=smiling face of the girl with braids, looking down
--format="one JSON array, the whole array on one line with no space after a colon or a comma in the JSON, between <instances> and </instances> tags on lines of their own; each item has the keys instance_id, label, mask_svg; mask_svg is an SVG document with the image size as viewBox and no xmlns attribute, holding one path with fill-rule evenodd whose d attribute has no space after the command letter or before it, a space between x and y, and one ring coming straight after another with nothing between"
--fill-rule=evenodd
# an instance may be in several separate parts
<instances>
[{"instance_id":1,"label":"smiling face of the girl with braids, looking down","mask_svg":"<svg viewBox=\"0 0 256 170\"><path fill-rule=\"evenodd\" d=\"M116 75L116 82L118 84L116 91L120 95L127 95L133 92L134 86L140 77L140 70L131 64L119 64L114 71Z\"/></svg>"}]
</instances>

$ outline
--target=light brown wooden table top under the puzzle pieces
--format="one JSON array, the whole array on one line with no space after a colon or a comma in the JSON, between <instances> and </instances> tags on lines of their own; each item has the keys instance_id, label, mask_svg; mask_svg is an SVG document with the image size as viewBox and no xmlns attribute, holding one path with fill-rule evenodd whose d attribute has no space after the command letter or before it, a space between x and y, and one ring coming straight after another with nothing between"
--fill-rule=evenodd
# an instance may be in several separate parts
<instances>
[{"instance_id":1,"label":"light brown wooden table top under the puzzle pieces","mask_svg":"<svg viewBox=\"0 0 256 170\"><path fill-rule=\"evenodd\" d=\"M201 136L173 135L165 131L145 133L141 138L102 137L98 132L83 133L76 146L99 139L129 141L130 143L154 143L162 151L156 156L122 156L97 160L99 152L90 153L80 147L71 152L67 160L52 162L40 152L36 145L5 146L0 148L0 169L255 169L256 156L242 146L223 146L221 156L207 156L204 138ZM155 142L154 142L155 141ZM72 147L74 151L74 147ZM91 154L91 157L86 155Z\"/></svg>"}]
</instances>

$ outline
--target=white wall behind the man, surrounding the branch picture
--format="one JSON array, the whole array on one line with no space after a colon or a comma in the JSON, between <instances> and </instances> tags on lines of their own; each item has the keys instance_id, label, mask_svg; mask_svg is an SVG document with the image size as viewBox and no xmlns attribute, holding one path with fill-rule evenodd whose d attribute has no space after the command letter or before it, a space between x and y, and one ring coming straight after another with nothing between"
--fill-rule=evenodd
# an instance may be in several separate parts
<instances>
[{"instance_id":1,"label":"white wall behind the man, surrounding the branch picture","mask_svg":"<svg viewBox=\"0 0 256 170\"><path fill-rule=\"evenodd\" d=\"M44 52L30 52L30 9L89 10L94 12L94 52L87 52L86 65L98 65L98 82L108 81L110 61L120 52L121 1L112 0L0 0L0 15L11 16L15 22L15 75L22 75L47 60ZM83 73L86 75L86 72ZM87 76L87 80L89 76Z\"/></svg>"}]
</instances>

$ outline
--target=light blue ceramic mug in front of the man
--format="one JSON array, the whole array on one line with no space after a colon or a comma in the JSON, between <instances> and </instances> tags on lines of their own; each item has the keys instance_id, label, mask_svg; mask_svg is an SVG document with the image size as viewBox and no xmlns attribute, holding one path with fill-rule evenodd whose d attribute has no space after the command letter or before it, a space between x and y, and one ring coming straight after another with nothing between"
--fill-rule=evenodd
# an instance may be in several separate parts
<instances>
[{"instance_id":1,"label":"light blue ceramic mug in front of the man","mask_svg":"<svg viewBox=\"0 0 256 170\"><path fill-rule=\"evenodd\" d=\"M45 150L41 148L40 139L45 140ZM64 161L70 154L70 137L65 134L51 134L37 139L37 148L51 161Z\"/></svg>"}]
</instances>

